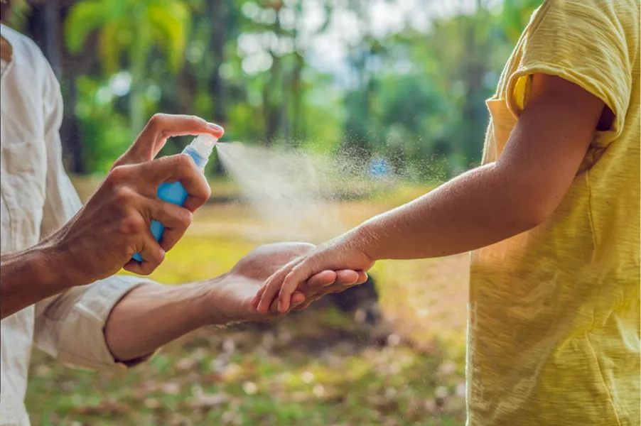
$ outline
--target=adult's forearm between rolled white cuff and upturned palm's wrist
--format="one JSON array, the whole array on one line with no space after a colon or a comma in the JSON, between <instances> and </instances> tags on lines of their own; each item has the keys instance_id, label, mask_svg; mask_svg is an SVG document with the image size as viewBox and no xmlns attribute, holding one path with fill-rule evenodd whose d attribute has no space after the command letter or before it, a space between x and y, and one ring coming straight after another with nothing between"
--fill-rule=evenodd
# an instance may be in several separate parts
<instances>
[{"instance_id":1,"label":"adult's forearm between rolled white cuff and upturned palm's wrist","mask_svg":"<svg viewBox=\"0 0 641 426\"><path fill-rule=\"evenodd\" d=\"M119 361L151 354L164 344L215 322L207 306L210 286L142 285L114 307L104 329L109 350Z\"/></svg>"}]
</instances>

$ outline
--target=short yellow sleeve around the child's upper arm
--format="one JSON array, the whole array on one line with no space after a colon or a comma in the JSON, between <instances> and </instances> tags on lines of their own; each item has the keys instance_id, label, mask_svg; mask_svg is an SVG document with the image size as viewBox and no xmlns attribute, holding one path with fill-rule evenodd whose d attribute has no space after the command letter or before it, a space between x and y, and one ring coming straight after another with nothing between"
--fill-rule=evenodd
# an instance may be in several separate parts
<instances>
[{"instance_id":1,"label":"short yellow sleeve around the child's upper arm","mask_svg":"<svg viewBox=\"0 0 641 426\"><path fill-rule=\"evenodd\" d=\"M623 27L610 2L547 0L524 34L519 65L507 85L507 104L519 116L530 76L558 75L599 97L615 114L613 128L596 144L619 136L630 102L632 66Z\"/></svg>"}]
</instances>

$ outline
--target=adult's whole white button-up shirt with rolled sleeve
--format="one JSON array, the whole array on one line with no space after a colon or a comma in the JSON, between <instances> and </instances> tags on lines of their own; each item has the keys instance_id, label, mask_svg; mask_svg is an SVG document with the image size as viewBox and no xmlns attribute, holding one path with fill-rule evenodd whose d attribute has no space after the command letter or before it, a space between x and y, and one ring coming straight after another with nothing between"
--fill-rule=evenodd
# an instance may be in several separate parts
<instances>
[{"instance_id":1,"label":"adult's whole white button-up shirt with rolled sleeve","mask_svg":"<svg viewBox=\"0 0 641 426\"><path fill-rule=\"evenodd\" d=\"M13 48L0 77L0 252L11 253L60 229L82 204L62 163L58 80L31 40L6 26L1 34ZM73 366L126 368L114 361L103 329L112 307L142 283L149 280L113 276L0 322L1 426L29 425L24 396L32 344Z\"/></svg>"}]
</instances>

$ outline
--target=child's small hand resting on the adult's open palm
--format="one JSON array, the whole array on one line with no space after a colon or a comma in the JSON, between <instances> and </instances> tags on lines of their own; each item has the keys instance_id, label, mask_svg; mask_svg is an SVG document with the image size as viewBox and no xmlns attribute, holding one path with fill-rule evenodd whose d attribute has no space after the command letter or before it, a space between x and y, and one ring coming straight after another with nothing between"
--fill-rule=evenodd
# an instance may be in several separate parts
<instances>
[{"instance_id":1,"label":"child's small hand resting on the adult's open palm","mask_svg":"<svg viewBox=\"0 0 641 426\"><path fill-rule=\"evenodd\" d=\"M296 291L298 285L304 283L312 275L321 271L343 269L367 272L373 265L374 261L360 249L357 249L355 244L351 244L348 236L340 236L338 239L328 241L318 246L317 249L294 259L271 275L252 300L252 305L257 307L259 312L268 312L271 303L278 295L279 312L287 312L291 303L291 295ZM363 274L363 277L365 280L367 279L366 274Z\"/></svg>"}]
</instances>

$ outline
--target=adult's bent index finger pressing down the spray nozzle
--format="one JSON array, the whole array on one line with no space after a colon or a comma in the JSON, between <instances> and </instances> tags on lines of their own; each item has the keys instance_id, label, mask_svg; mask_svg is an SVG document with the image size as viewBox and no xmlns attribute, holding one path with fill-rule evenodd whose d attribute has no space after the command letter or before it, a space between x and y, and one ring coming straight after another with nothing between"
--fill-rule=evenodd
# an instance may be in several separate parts
<instances>
[{"instance_id":1,"label":"adult's bent index finger pressing down the spray nozzle","mask_svg":"<svg viewBox=\"0 0 641 426\"><path fill-rule=\"evenodd\" d=\"M155 114L149 119L134 144L119 158L117 165L144 163L152 160L163 148L167 138L203 133L221 138L225 131L217 124L208 123L197 116Z\"/></svg>"}]
</instances>

